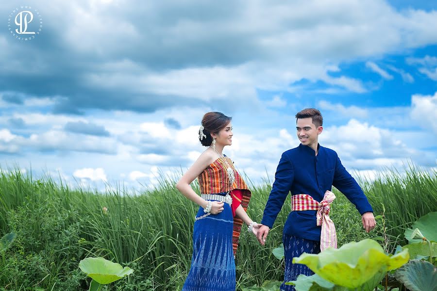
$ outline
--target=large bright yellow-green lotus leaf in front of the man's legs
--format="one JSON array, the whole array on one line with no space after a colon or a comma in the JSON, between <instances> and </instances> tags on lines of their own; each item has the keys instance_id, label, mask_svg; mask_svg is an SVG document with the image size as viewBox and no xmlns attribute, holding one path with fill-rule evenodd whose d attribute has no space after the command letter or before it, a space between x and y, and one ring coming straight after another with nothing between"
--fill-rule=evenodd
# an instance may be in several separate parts
<instances>
[{"instance_id":1,"label":"large bright yellow-green lotus leaf in front of the man's legs","mask_svg":"<svg viewBox=\"0 0 437 291\"><path fill-rule=\"evenodd\" d=\"M303 254L293 263L304 264L320 277L346 288L358 288L379 272L397 269L409 259L408 251L390 256L378 242L365 239L320 254Z\"/></svg>"}]
</instances>

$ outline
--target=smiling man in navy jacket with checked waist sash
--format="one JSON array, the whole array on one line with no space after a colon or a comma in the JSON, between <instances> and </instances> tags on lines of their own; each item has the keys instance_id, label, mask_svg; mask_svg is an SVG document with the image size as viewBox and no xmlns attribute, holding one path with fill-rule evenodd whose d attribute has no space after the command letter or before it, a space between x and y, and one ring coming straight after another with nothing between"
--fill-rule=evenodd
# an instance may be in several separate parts
<instances>
[{"instance_id":1,"label":"smiling man in navy jacket with checked waist sash","mask_svg":"<svg viewBox=\"0 0 437 291\"><path fill-rule=\"evenodd\" d=\"M298 275L314 274L305 265L292 264L293 257L299 257L304 252L317 254L320 248L336 247L335 227L327 215L329 204L335 199L330 192L332 186L355 205L367 232L376 225L369 201L341 164L337 153L319 145L319 134L323 131L319 110L308 108L297 113L296 125L301 144L282 154L261 221L263 226L257 234L258 241L264 245L269 229L288 192L291 192L292 211L283 232L286 269L281 291L294 290L294 286L285 285L285 282L296 280ZM338 134L341 135L341 132Z\"/></svg>"}]
</instances>

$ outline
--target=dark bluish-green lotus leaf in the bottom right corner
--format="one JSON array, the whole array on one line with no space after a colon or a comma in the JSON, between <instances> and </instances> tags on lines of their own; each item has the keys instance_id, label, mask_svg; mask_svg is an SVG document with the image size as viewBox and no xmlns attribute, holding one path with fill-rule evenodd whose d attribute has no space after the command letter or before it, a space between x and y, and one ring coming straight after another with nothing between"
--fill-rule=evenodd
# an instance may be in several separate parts
<instances>
[{"instance_id":1,"label":"dark bluish-green lotus leaf in the bottom right corner","mask_svg":"<svg viewBox=\"0 0 437 291\"><path fill-rule=\"evenodd\" d=\"M430 262L411 260L395 276L411 291L437 291L437 270Z\"/></svg>"}]
</instances>

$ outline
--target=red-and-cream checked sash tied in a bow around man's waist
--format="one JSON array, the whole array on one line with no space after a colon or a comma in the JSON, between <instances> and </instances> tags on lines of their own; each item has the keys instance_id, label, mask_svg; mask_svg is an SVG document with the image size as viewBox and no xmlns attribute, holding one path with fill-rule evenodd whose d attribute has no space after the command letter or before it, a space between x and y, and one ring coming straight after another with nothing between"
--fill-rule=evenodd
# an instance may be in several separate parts
<instances>
[{"instance_id":1,"label":"red-and-cream checked sash tied in a bow around man's waist","mask_svg":"<svg viewBox=\"0 0 437 291\"><path fill-rule=\"evenodd\" d=\"M328 247L337 248L336 226L329 217L331 203L336 199L336 195L331 191L326 191L323 200L318 202L308 194L297 194L291 196L291 210L317 210L317 226L321 226L320 251Z\"/></svg>"}]
</instances>

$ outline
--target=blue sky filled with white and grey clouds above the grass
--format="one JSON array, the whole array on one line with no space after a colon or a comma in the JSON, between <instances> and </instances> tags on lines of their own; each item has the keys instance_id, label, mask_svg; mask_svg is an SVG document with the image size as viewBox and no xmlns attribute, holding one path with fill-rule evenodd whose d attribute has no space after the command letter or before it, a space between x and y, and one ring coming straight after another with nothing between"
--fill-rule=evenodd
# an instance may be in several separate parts
<instances>
[{"instance_id":1,"label":"blue sky filled with white and grey clouds above the grass","mask_svg":"<svg viewBox=\"0 0 437 291\"><path fill-rule=\"evenodd\" d=\"M29 40L11 33L20 11ZM272 182L309 107L354 177L436 169L436 1L12 0L0 16L3 171L152 188L199 157L219 111L224 154Z\"/></svg>"}]
</instances>

